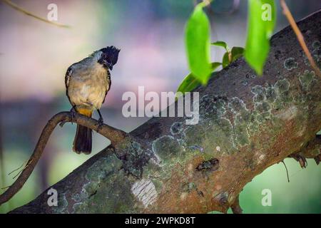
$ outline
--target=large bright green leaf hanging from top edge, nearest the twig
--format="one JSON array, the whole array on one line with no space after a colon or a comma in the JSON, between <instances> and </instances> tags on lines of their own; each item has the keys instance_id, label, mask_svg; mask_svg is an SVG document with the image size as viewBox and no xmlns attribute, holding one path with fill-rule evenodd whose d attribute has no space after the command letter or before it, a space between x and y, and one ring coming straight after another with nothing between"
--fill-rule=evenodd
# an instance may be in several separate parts
<instances>
[{"instance_id":1,"label":"large bright green leaf hanging from top edge, nearest the twig","mask_svg":"<svg viewBox=\"0 0 321 228\"><path fill-rule=\"evenodd\" d=\"M244 56L256 73L262 75L275 26L275 4L273 0L249 0L248 3L248 38Z\"/></svg>"}]
</instances>

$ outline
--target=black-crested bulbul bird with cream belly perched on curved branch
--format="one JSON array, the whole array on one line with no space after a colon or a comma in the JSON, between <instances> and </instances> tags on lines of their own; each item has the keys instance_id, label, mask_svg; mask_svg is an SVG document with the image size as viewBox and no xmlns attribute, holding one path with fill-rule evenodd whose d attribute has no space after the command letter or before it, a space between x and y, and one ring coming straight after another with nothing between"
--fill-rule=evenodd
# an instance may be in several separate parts
<instances>
[{"instance_id":1,"label":"black-crested bulbul bird with cream belly perched on curved branch","mask_svg":"<svg viewBox=\"0 0 321 228\"><path fill-rule=\"evenodd\" d=\"M111 89L111 73L117 63L119 49L108 46L94 51L90 56L69 66L66 76L66 94L73 106L71 112L91 117L93 110L99 114L99 123L103 123L100 108ZM73 151L91 153L92 130L77 125L73 140Z\"/></svg>"}]
</instances>

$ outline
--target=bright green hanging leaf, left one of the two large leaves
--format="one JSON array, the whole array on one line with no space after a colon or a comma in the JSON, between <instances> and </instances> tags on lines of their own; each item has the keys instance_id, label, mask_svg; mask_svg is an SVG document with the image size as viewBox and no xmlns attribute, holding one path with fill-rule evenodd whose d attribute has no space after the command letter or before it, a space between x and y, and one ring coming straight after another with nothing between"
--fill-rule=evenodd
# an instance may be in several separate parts
<instances>
[{"instance_id":1,"label":"bright green hanging leaf, left one of the two large leaves","mask_svg":"<svg viewBox=\"0 0 321 228\"><path fill-rule=\"evenodd\" d=\"M195 6L185 28L185 46L191 73L203 85L210 78L210 21L203 11L204 4Z\"/></svg>"}]
</instances>

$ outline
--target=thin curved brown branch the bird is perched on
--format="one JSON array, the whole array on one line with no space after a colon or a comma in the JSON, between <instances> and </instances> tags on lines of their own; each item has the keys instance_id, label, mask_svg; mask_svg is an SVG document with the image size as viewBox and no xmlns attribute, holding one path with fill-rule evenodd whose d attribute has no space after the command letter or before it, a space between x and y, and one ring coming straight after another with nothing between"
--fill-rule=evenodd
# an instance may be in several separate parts
<instances>
[{"instance_id":1,"label":"thin curved brown branch the bird is perched on","mask_svg":"<svg viewBox=\"0 0 321 228\"><path fill-rule=\"evenodd\" d=\"M92 130L95 130L97 133L108 138L109 140L111 140L111 145L115 145L117 142L120 142L121 140L126 138L126 136L128 136L128 133L125 133L122 130L118 130L106 124L101 125L101 128L99 128L98 130L98 120L88 118L85 115L74 113L72 120L73 123L77 123L87 128L91 128ZM51 120L48 121L48 123L44 127L44 130L42 130L40 138L34 149L34 153L31 155L29 161L26 164L26 167L24 167L24 170L22 170L21 175L19 175L16 181L2 195L0 195L0 205L11 199L11 197L13 197L21 189L21 187L24 186L24 183L26 182L26 180L28 180L29 176L31 175L31 172L34 170L34 167L39 161L42 152L44 152L44 148L46 147L51 133L56 128L56 125L58 125L59 123L67 122L71 122L70 112L58 113L54 115L54 117L51 118Z\"/></svg>"}]
</instances>

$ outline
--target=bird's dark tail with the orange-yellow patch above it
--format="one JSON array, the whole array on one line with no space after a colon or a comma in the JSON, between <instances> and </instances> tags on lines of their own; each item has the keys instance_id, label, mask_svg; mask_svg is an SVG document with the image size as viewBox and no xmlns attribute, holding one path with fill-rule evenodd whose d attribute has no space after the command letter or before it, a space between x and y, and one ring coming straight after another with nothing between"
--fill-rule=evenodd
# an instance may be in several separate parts
<instances>
[{"instance_id":1,"label":"bird's dark tail with the orange-yellow patch above it","mask_svg":"<svg viewBox=\"0 0 321 228\"><path fill-rule=\"evenodd\" d=\"M93 110L77 108L77 112L91 117ZM92 130L82 125L77 125L75 139L73 140L73 152L88 155L91 153Z\"/></svg>"}]
</instances>

